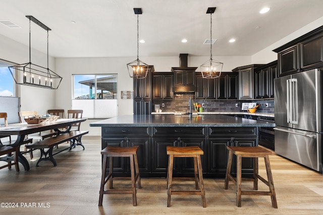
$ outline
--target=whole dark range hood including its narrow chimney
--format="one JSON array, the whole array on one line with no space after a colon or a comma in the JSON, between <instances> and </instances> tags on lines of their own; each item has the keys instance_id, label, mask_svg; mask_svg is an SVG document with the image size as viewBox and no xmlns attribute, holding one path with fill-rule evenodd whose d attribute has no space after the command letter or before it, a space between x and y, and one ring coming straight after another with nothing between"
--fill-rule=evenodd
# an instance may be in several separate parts
<instances>
[{"instance_id":1,"label":"whole dark range hood including its narrow chimney","mask_svg":"<svg viewBox=\"0 0 323 215\"><path fill-rule=\"evenodd\" d=\"M188 67L187 63L188 54L180 54L180 63L179 67L172 67L172 71L174 72L174 93L191 93L196 91L195 86L195 70L197 67ZM193 72L193 76L192 76ZM191 76L189 76L189 74ZM192 83L187 84L187 81L192 81ZM182 83L182 84L179 84Z\"/></svg>"}]
</instances>

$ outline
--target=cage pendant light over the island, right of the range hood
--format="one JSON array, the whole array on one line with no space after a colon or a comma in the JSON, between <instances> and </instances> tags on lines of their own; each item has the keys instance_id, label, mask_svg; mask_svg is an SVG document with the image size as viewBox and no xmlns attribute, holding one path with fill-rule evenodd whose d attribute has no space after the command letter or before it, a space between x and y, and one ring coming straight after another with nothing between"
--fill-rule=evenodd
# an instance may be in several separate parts
<instances>
[{"instance_id":1,"label":"cage pendant light over the island, right of the range hood","mask_svg":"<svg viewBox=\"0 0 323 215\"><path fill-rule=\"evenodd\" d=\"M212 59L212 14L216 8L208 8L206 14L210 14L210 59L200 65L204 79L215 79L221 76L223 63Z\"/></svg>"}]
</instances>

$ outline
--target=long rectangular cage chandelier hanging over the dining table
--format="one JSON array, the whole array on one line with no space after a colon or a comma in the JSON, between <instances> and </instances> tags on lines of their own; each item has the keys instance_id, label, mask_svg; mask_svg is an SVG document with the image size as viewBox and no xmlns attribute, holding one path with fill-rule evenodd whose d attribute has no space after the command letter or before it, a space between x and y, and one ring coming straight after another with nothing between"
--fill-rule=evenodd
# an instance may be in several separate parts
<instances>
[{"instance_id":1,"label":"long rectangular cage chandelier hanging over the dining table","mask_svg":"<svg viewBox=\"0 0 323 215\"><path fill-rule=\"evenodd\" d=\"M51 29L38 21L33 16L26 17L29 19L29 62L9 66L8 68L10 69L10 73L13 76L16 84L18 85L26 85L53 90L58 89L61 84L62 77L48 68L48 31L51 31ZM47 68L31 63L31 21L47 31Z\"/></svg>"}]
</instances>

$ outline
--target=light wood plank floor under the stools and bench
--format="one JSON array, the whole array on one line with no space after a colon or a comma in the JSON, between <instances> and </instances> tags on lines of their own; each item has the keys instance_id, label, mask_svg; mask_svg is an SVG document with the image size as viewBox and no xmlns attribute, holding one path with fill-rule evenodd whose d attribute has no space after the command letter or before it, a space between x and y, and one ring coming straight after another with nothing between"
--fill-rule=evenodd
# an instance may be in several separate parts
<instances>
[{"instance_id":1,"label":"light wood plank floor under the stools and bench","mask_svg":"<svg viewBox=\"0 0 323 215\"><path fill-rule=\"evenodd\" d=\"M270 161L278 209L272 207L270 196L242 196L238 208L235 186L230 182L224 190L224 179L204 179L206 208L200 196L181 195L173 195L171 207L167 207L165 178L143 178L142 189L137 189L137 206L132 206L131 194L115 194L104 195L103 206L98 207L100 137L84 136L83 144L85 151L78 147L56 155L56 167L49 161L35 167L37 160L29 161L26 155L30 171L22 166L19 173L14 168L0 170L0 202L18 203L15 208L1 205L0 214L323 214L323 176L277 155L270 156ZM38 159L39 152L34 156ZM264 173L262 159L259 169ZM116 181L114 186L129 187L129 182ZM193 183L174 186L194 188ZM252 183L244 182L242 187L252 189ZM262 188L267 191L259 182L259 190Z\"/></svg>"}]
</instances>

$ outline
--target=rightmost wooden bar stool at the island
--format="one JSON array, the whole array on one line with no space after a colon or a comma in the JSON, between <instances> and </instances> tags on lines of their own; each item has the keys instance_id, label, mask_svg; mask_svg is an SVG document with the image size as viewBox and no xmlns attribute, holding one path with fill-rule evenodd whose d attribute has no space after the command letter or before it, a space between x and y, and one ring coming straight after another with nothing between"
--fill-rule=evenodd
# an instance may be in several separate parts
<instances>
[{"instance_id":1,"label":"rightmost wooden bar stool at the island","mask_svg":"<svg viewBox=\"0 0 323 215\"><path fill-rule=\"evenodd\" d=\"M237 185L237 206L241 207L241 195L270 195L272 198L272 205L275 208L277 206L276 193L274 188L273 176L271 164L269 162L269 155L273 153L271 151L265 150L261 147L227 147L229 150L228 166L224 188L228 189L229 180L232 180ZM237 178L234 178L231 174L231 164L233 154L237 156ZM253 178L244 178L245 180L253 181L253 189L258 190L258 179L265 183L269 190L266 191L245 191L241 190L241 165L242 158L253 158ZM264 163L266 166L267 180L258 175L258 158L264 158Z\"/></svg>"}]
</instances>

